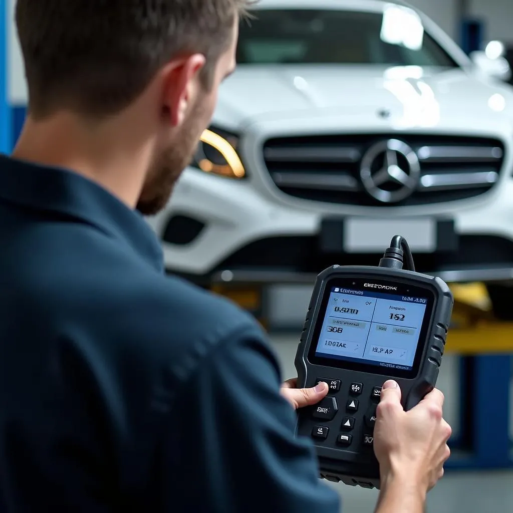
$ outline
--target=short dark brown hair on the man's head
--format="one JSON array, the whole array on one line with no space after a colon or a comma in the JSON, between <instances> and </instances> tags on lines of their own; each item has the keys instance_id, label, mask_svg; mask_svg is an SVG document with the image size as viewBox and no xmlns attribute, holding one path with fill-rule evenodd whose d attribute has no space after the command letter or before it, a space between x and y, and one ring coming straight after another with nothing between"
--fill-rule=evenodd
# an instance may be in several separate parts
<instances>
[{"instance_id":1,"label":"short dark brown hair on the man's head","mask_svg":"<svg viewBox=\"0 0 513 513\"><path fill-rule=\"evenodd\" d=\"M203 53L208 87L251 0L17 0L29 109L122 110L182 52Z\"/></svg>"}]
</instances>

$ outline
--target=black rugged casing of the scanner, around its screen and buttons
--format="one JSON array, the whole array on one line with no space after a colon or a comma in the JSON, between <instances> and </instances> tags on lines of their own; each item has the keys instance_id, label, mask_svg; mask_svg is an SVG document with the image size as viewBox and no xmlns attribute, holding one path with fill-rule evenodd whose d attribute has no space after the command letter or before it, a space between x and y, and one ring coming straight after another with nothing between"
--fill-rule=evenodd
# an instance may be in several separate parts
<instances>
[{"instance_id":1,"label":"black rugged casing of the scanner, around its screen and buttons","mask_svg":"<svg viewBox=\"0 0 513 513\"><path fill-rule=\"evenodd\" d=\"M404 379L386 376L381 373L361 372L349 369L342 369L336 366L312 364L308 359L310 345L317 344L314 337L315 325L319 315L322 315L321 305L326 293L328 281L337 278L366 278L369 280L386 280L412 286L423 286L433 292L435 301L431 310L431 319L425 340L419 340L424 344L419 371L413 379ZM327 424L329 434L326 440L313 439L319 459L320 477L329 481L339 482L352 486L365 488L380 488L379 465L374 456L373 448L364 447L358 437L362 437L365 428L355 426L352 436L354 443L349 448L337 446L336 437L340 433L338 426L342 417L347 416L345 411L346 401L351 398L347 386L351 383L362 383L364 393L358 399L363 405L358 414L361 424L362 410L371 407L371 399L367 393L373 387L381 387L388 379L394 379L399 383L402 392L402 403L406 410L417 405L422 398L436 385L438 372L442 363L446 334L448 331L452 313L453 298L447 284L439 278L427 276L417 272L402 269L390 269L382 267L349 267L333 266L319 274L308 307L305 325L301 334L298 352L295 358L295 367L298 371L298 386L311 387L317 384L320 377L340 380L342 383L340 391L333 394L339 405L336 417ZM322 322L322 319L319 321ZM328 396L331 392L328 392ZM299 410L297 436L311 437L313 426L323 424L323 421L312 419L314 407L307 407ZM368 431L368 430L367 430Z\"/></svg>"}]
</instances>

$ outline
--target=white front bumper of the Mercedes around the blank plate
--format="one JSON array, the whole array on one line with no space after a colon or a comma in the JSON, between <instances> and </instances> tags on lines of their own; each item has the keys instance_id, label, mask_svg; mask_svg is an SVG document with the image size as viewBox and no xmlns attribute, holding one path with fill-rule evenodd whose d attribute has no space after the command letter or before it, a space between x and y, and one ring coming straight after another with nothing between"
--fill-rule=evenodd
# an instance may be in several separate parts
<instances>
[{"instance_id":1,"label":"white front bumper of the Mercedes around the blank plate","mask_svg":"<svg viewBox=\"0 0 513 513\"><path fill-rule=\"evenodd\" d=\"M344 208L342 222L355 216L383 219L380 208ZM377 265L402 220L443 218L453 222L457 245L439 250L413 248L417 270L446 281L513 280L513 179L490 193L436 209L386 209L388 232L373 251L326 252L320 243L328 214L318 205L304 208L273 201L249 180L232 181L189 169L168 207L150 220L163 240L166 267L195 281L311 282L333 265ZM173 240L173 216L196 220L201 229L185 243ZM332 218L333 214L329 213Z\"/></svg>"}]
</instances>

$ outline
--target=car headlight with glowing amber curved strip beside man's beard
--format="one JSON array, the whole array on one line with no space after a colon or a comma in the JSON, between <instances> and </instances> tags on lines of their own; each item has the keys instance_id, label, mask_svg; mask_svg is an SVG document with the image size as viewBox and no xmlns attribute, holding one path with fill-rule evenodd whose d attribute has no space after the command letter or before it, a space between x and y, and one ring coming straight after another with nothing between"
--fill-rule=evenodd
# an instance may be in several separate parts
<instances>
[{"instance_id":1,"label":"car headlight with glowing amber curved strip beside man's beard","mask_svg":"<svg viewBox=\"0 0 513 513\"><path fill-rule=\"evenodd\" d=\"M213 128L205 130L191 165L206 173L243 178L246 171L237 154L237 144L234 135Z\"/></svg>"}]
</instances>

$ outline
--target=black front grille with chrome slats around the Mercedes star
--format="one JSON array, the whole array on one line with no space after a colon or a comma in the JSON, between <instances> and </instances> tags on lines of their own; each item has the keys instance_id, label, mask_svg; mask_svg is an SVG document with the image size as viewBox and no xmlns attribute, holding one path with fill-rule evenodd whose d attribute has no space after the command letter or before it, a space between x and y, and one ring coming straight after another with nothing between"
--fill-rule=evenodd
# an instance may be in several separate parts
<instances>
[{"instance_id":1,"label":"black front grille with chrome slats around the Mercedes star","mask_svg":"<svg viewBox=\"0 0 513 513\"><path fill-rule=\"evenodd\" d=\"M399 168L399 176L385 173L379 194L372 194L368 182L364 186L362 160L364 166L369 164L367 152L386 141L395 141L391 147L405 143L407 146L402 144L401 148L411 148L415 162L393 152L397 164L393 169ZM263 152L272 181L286 194L311 201L366 206L422 205L472 198L494 187L504 160L504 146L495 139L397 133L281 137L268 140ZM386 151L377 153L379 149L373 152L376 158L371 156L372 165L367 167L372 180L381 182L377 179L380 169L390 167L384 165ZM417 179L406 180L417 164Z\"/></svg>"}]
</instances>

